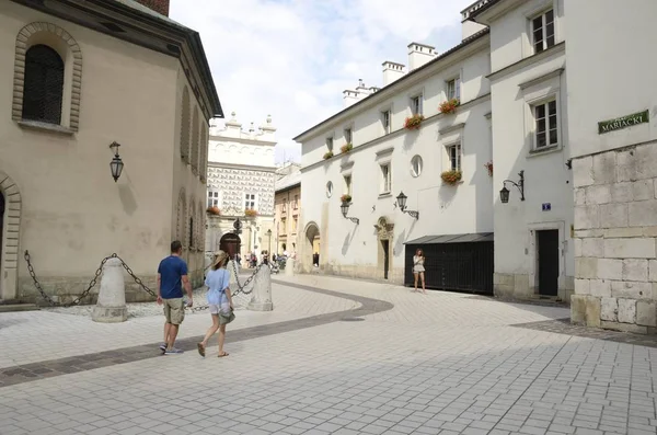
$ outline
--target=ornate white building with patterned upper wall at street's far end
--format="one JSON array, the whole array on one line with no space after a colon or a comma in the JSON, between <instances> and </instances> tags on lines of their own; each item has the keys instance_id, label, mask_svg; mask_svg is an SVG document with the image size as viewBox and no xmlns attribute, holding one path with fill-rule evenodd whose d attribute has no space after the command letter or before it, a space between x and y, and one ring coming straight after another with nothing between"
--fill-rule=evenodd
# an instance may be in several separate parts
<instances>
[{"instance_id":1,"label":"ornate white building with patterned upper wall at street's far end","mask_svg":"<svg viewBox=\"0 0 657 435\"><path fill-rule=\"evenodd\" d=\"M222 249L230 254L249 252L258 256L274 243L274 147L276 128L272 118L249 130L235 113L221 128L211 124L208 153L206 252ZM217 207L220 215L215 215ZM235 234L234 222L242 224ZM272 244L275 248L274 244Z\"/></svg>"}]
</instances>

